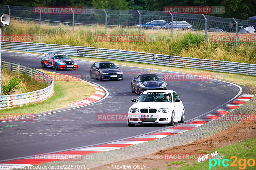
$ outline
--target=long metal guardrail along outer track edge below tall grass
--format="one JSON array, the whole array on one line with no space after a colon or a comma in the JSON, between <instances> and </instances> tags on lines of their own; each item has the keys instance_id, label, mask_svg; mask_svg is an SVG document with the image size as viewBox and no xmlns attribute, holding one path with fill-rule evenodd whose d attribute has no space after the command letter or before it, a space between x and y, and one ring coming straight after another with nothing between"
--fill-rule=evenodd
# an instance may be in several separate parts
<instances>
[{"instance_id":1,"label":"long metal guardrail along outer track edge below tall grass","mask_svg":"<svg viewBox=\"0 0 256 170\"><path fill-rule=\"evenodd\" d=\"M82 46L65 46L54 44L39 44L28 42L2 41L2 49L32 52L48 53L61 52L73 56L94 57L103 59L114 59L123 61L134 61L150 64L158 64L172 67L186 67L196 69L206 69L228 73L241 73L256 75L255 64L236 63L218 60L206 60L198 58L178 57L172 55L162 55L153 53L141 53L134 51L92 48Z\"/></svg>"}]
</instances>

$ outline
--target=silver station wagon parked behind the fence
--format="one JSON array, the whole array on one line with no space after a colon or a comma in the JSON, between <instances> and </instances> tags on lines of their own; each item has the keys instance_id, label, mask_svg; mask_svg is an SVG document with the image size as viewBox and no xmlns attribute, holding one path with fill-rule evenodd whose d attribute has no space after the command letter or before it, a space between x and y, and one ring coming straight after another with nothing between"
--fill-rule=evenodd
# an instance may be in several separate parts
<instances>
[{"instance_id":1,"label":"silver station wagon parked behind the fence","mask_svg":"<svg viewBox=\"0 0 256 170\"><path fill-rule=\"evenodd\" d=\"M164 25L156 25L153 26L153 28L162 28L162 29L172 29L172 28L178 28L178 29L193 29L193 26L189 24L187 21L169 21L168 23L165 23Z\"/></svg>"}]
</instances>

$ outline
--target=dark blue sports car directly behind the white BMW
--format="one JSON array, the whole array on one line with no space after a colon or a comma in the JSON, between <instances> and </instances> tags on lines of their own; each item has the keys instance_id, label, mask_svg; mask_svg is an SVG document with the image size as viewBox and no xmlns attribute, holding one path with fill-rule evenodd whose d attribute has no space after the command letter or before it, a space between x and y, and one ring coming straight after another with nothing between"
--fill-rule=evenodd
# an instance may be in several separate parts
<instances>
[{"instance_id":1,"label":"dark blue sports car directly behind the white BMW","mask_svg":"<svg viewBox=\"0 0 256 170\"><path fill-rule=\"evenodd\" d=\"M132 93L139 95L146 90L167 90L167 83L164 80L156 74L140 74L132 80Z\"/></svg>"}]
</instances>

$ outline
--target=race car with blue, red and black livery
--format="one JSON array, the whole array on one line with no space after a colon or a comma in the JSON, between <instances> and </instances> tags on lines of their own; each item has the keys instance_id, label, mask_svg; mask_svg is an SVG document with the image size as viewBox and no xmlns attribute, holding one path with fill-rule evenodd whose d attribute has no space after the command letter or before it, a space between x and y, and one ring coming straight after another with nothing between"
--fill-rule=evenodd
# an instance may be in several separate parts
<instances>
[{"instance_id":1,"label":"race car with blue, red and black livery","mask_svg":"<svg viewBox=\"0 0 256 170\"><path fill-rule=\"evenodd\" d=\"M75 60L68 57L64 53L48 53L41 59L43 68L50 67L55 70L77 70L77 63Z\"/></svg>"}]
</instances>

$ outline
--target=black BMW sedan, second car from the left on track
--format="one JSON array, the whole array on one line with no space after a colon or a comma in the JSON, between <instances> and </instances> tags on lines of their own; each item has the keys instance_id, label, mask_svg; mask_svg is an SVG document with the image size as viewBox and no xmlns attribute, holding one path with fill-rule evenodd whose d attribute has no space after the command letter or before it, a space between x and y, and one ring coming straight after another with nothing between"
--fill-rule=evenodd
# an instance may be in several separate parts
<instances>
[{"instance_id":1,"label":"black BMW sedan, second car from the left on track","mask_svg":"<svg viewBox=\"0 0 256 170\"><path fill-rule=\"evenodd\" d=\"M112 62L95 62L90 68L90 77L102 80L123 80L123 72Z\"/></svg>"}]
</instances>

